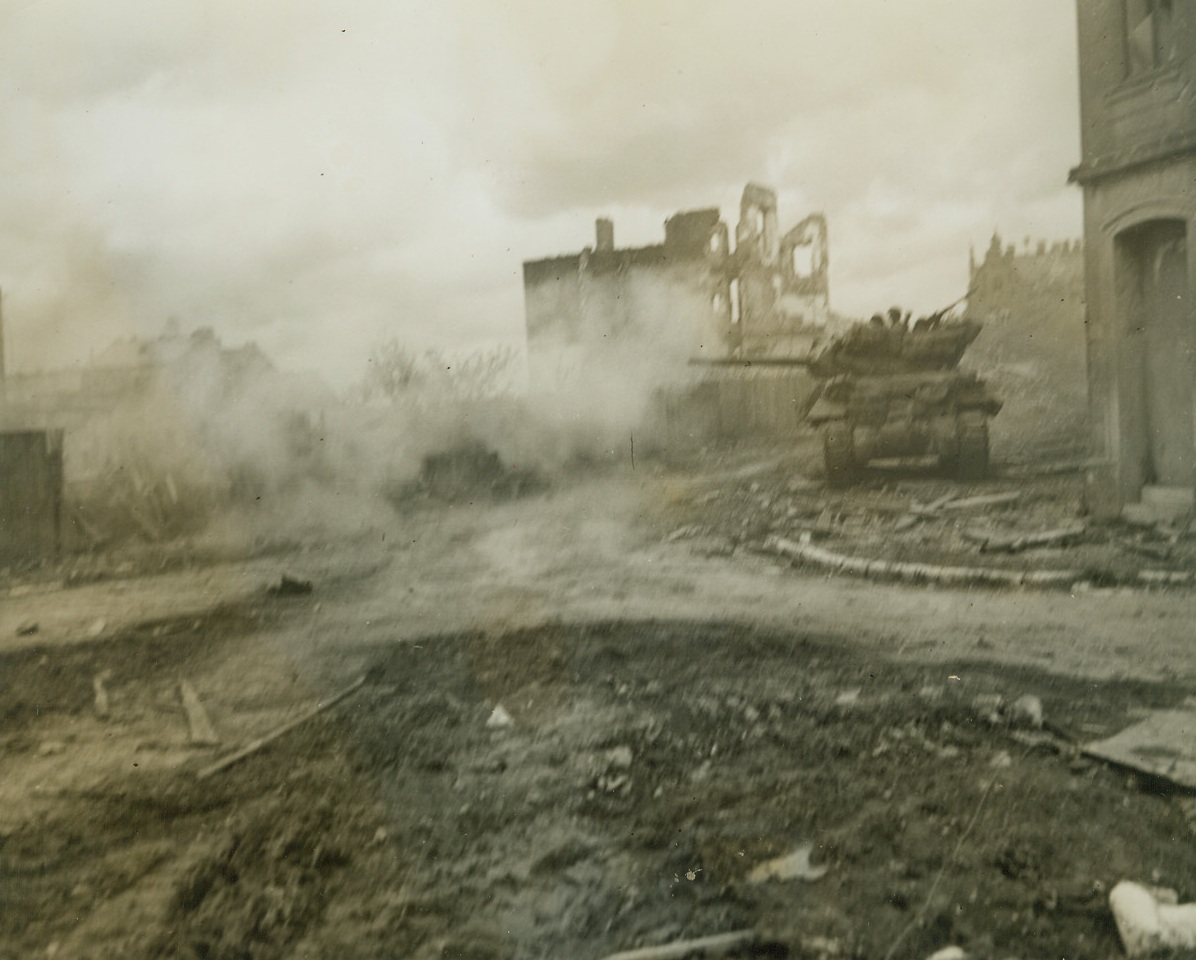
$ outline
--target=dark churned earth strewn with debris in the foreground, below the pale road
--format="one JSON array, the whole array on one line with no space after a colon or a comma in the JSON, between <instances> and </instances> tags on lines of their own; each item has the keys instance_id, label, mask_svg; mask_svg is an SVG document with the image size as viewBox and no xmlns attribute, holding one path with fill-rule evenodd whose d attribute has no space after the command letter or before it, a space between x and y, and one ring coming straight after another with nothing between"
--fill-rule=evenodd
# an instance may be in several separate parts
<instances>
[{"instance_id":1,"label":"dark churned earth strewn with debris in the foreground, below the pale road","mask_svg":"<svg viewBox=\"0 0 1196 960\"><path fill-rule=\"evenodd\" d=\"M292 693L266 732L252 702L179 683L202 677L196 644L62 654L53 677L42 650L5 658L10 751L44 773L87 724L141 716L183 759L6 827L13 955L1111 955L1121 881L1148 885L1158 929L1153 888L1196 891L1174 839L1191 805L1066 733L1173 708L1164 686L878 668L743 625L555 624L359 648L368 680ZM205 702L232 751L207 768ZM72 733L43 735L56 720Z\"/></svg>"}]
</instances>

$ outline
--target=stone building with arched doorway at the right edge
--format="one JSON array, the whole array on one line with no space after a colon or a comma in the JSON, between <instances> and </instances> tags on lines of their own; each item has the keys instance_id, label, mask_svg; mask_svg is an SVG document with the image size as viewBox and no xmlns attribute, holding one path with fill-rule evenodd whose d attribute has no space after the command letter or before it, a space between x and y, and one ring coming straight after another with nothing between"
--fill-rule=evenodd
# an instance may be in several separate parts
<instances>
[{"instance_id":1,"label":"stone building with arched doorway at the right edge","mask_svg":"<svg viewBox=\"0 0 1196 960\"><path fill-rule=\"evenodd\" d=\"M1196 484L1196 7L1076 7L1090 507L1183 512Z\"/></svg>"}]
</instances>

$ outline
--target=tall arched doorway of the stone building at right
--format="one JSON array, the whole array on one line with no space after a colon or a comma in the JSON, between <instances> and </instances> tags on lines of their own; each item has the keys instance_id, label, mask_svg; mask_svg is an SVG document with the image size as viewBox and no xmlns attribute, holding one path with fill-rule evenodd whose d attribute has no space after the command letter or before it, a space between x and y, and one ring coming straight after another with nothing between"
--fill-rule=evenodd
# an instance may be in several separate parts
<instances>
[{"instance_id":1,"label":"tall arched doorway of the stone building at right","mask_svg":"<svg viewBox=\"0 0 1196 960\"><path fill-rule=\"evenodd\" d=\"M1122 317L1137 410L1123 436L1139 448L1141 483L1191 488L1196 482L1196 317L1189 296L1188 228L1157 220L1118 237ZM1135 430L1136 433L1137 430ZM1129 451L1127 451L1129 452Z\"/></svg>"}]
</instances>

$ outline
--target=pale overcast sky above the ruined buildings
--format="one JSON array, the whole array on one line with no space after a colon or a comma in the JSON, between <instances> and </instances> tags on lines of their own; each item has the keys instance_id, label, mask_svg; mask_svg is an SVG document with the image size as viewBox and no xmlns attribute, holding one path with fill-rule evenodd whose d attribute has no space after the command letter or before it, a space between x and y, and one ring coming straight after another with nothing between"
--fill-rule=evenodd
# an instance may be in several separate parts
<instances>
[{"instance_id":1,"label":"pale overcast sky above the ruined buildings","mask_svg":"<svg viewBox=\"0 0 1196 960\"><path fill-rule=\"evenodd\" d=\"M1080 234L1073 0L6 0L10 365L210 325L344 385L521 342L520 263L743 184L830 220L831 304Z\"/></svg>"}]
</instances>

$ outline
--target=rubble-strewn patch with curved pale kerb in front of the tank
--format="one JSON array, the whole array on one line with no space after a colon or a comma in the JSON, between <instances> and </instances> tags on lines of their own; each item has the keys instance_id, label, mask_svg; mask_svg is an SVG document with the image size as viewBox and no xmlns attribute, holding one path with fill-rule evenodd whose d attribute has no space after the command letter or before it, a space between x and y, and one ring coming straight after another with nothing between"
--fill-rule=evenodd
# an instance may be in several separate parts
<instances>
[{"instance_id":1,"label":"rubble-strewn patch with curved pale kerb in front of the tank","mask_svg":"<svg viewBox=\"0 0 1196 960\"><path fill-rule=\"evenodd\" d=\"M659 516L663 542L704 554L780 552L818 569L917 582L1073 587L1196 582L1189 520L1097 524L1080 470L984 484L875 471L840 490L811 467L812 440L740 476L687 479Z\"/></svg>"}]
</instances>

